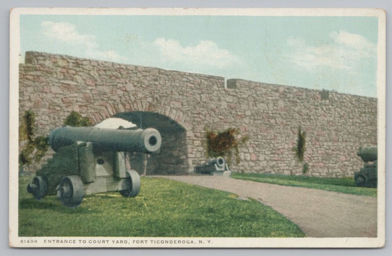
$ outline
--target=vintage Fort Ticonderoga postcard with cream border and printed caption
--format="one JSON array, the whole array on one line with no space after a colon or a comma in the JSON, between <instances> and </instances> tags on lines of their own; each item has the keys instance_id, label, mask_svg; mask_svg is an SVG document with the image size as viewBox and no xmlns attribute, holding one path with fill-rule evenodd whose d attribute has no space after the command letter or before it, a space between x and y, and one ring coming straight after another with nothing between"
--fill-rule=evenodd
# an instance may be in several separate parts
<instances>
[{"instance_id":1,"label":"vintage Fort Ticonderoga postcard with cream border and printed caption","mask_svg":"<svg viewBox=\"0 0 392 256\"><path fill-rule=\"evenodd\" d=\"M15 8L11 247L385 244L382 9Z\"/></svg>"}]
</instances>

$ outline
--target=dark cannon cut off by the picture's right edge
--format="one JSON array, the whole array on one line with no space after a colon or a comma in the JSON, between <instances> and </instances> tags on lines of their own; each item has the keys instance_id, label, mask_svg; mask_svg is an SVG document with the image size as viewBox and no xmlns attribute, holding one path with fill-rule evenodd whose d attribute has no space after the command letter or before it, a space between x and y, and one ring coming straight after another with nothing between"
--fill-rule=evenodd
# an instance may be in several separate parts
<instances>
[{"instance_id":1,"label":"dark cannon cut off by the picture's right edge","mask_svg":"<svg viewBox=\"0 0 392 256\"><path fill-rule=\"evenodd\" d=\"M365 162L360 171L354 173L355 184L360 187L377 188L377 146L364 146L358 156Z\"/></svg>"}]
</instances>

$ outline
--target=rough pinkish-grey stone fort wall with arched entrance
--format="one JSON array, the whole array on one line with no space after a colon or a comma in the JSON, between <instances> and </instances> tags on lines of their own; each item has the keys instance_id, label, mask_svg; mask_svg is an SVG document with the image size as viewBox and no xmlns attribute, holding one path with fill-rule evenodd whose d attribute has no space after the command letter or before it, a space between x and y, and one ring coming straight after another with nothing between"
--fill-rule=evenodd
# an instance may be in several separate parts
<instances>
[{"instance_id":1,"label":"rough pinkish-grey stone fort wall with arched entrance","mask_svg":"<svg viewBox=\"0 0 392 256\"><path fill-rule=\"evenodd\" d=\"M241 163L232 166L243 172L301 174L292 150L298 126L306 131L304 161L312 176L352 176L363 165L359 147L377 143L375 98L241 79L224 85L218 76L26 52L19 120L31 109L37 131L48 134L73 110L94 124L122 112L158 113L185 130L180 149L176 136L167 143L167 151L182 152L172 162L176 173L192 172L206 159L206 128L240 128L249 136Z\"/></svg>"}]
</instances>

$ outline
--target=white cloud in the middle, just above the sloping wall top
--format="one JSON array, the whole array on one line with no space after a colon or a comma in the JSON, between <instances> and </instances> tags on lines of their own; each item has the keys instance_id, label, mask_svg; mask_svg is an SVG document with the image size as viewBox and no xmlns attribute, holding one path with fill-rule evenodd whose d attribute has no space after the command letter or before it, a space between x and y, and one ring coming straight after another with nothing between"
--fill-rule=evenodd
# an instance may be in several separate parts
<instances>
[{"instance_id":1,"label":"white cloud in the middle, just above the sloping wall top","mask_svg":"<svg viewBox=\"0 0 392 256\"><path fill-rule=\"evenodd\" d=\"M176 40L157 38L152 44L160 55L158 58L172 64L223 69L241 62L237 56L209 40L184 47Z\"/></svg>"}]
</instances>

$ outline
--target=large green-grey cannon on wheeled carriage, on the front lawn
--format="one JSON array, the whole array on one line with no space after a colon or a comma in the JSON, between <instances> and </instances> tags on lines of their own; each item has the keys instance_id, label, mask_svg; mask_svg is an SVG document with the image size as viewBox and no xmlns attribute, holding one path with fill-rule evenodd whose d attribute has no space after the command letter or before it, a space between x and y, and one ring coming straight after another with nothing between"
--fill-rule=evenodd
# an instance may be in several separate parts
<instances>
[{"instance_id":1,"label":"large green-grey cannon on wheeled carriage, on the front lawn","mask_svg":"<svg viewBox=\"0 0 392 256\"><path fill-rule=\"evenodd\" d=\"M36 172L27 192L38 200L57 194L61 203L74 208L84 195L98 192L136 196L140 176L125 169L124 152L156 152L161 135L153 128L59 127L50 133L49 146L56 153Z\"/></svg>"}]
</instances>

